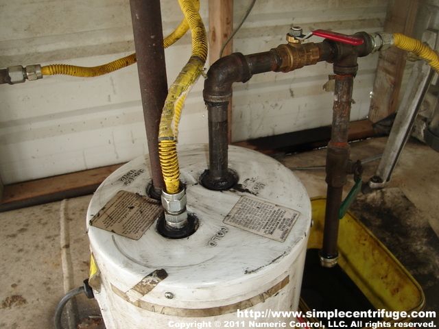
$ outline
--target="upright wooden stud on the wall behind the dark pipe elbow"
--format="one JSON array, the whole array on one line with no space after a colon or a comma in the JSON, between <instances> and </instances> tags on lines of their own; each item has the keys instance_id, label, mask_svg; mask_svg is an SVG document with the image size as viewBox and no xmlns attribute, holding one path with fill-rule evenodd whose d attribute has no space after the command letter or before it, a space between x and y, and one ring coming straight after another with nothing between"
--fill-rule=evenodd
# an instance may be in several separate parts
<instances>
[{"instance_id":1,"label":"upright wooden stud on the wall behind the dark pipe elbow","mask_svg":"<svg viewBox=\"0 0 439 329\"><path fill-rule=\"evenodd\" d=\"M233 0L209 0L209 62L212 65L219 59L222 45L233 32ZM230 40L222 56L233 52ZM232 100L228 104L228 143L232 141Z\"/></svg>"}]
</instances>

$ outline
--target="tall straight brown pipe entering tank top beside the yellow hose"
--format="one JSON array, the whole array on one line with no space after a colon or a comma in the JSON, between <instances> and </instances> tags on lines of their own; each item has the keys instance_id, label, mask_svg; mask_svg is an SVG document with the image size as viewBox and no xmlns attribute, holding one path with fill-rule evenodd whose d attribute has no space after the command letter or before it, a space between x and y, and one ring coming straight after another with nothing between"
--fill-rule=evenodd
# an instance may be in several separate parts
<instances>
[{"instance_id":1,"label":"tall straight brown pipe entering tank top beside the yellow hose","mask_svg":"<svg viewBox=\"0 0 439 329\"><path fill-rule=\"evenodd\" d=\"M160 0L130 0L143 117L152 169L152 184L159 195L164 186L158 159L158 125L167 96L165 50Z\"/></svg>"}]
</instances>

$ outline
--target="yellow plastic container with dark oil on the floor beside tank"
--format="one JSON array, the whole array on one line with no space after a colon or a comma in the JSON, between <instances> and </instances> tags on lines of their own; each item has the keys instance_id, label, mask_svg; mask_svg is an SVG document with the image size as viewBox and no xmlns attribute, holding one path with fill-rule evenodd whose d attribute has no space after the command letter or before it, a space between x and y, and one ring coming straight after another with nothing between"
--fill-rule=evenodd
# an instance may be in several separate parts
<instances>
[{"instance_id":1,"label":"yellow plastic container with dark oil on the floor beside tank","mask_svg":"<svg viewBox=\"0 0 439 329\"><path fill-rule=\"evenodd\" d=\"M309 235L308 249L321 249L326 199L313 198L311 205L314 224ZM351 212L340 219L337 248L340 254L338 264L375 309L406 311L408 314L423 309L425 297L418 282ZM303 300L300 300L299 308L304 313L310 310ZM392 324L410 319L406 317L384 321ZM318 319L305 317L305 321Z\"/></svg>"}]
</instances>

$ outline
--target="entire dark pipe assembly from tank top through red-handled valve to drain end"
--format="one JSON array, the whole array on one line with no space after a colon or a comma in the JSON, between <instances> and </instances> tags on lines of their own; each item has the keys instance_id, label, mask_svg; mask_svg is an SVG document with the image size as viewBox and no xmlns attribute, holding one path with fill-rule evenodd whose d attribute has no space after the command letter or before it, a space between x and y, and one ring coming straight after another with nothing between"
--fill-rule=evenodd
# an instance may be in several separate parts
<instances>
[{"instance_id":1,"label":"entire dark pipe assembly from tank top through red-handled valve to drain end","mask_svg":"<svg viewBox=\"0 0 439 329\"><path fill-rule=\"evenodd\" d=\"M325 32L331 37L333 32ZM346 39L355 44L340 42ZM233 82L246 82L253 74L268 71L289 72L322 60L333 62L335 97L333 103L333 129L327 153L327 210L324 242L320 263L333 267L337 263L338 210L342 204L343 186L350 171L348 123L351 112L353 79L357 73L357 58L367 56L377 46L370 34L359 32L355 36L336 34L336 40L325 39L318 44L302 44L293 35L289 43L265 53L244 56L233 53L215 62L204 82L203 97L209 111L209 169L200 181L206 188L224 190L237 182L236 175L228 169L227 117ZM346 37L346 38L345 38ZM347 39L350 40L347 40ZM361 39L361 40L360 40Z\"/></svg>"}]
</instances>

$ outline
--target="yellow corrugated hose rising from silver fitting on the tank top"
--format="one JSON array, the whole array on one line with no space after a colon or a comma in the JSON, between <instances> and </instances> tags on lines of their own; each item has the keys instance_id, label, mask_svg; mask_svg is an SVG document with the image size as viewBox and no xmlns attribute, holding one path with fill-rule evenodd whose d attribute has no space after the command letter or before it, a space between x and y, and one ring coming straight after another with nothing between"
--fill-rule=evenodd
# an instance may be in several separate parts
<instances>
[{"instance_id":1,"label":"yellow corrugated hose rising from silver fitting on the tank top","mask_svg":"<svg viewBox=\"0 0 439 329\"><path fill-rule=\"evenodd\" d=\"M180 169L176 145L183 103L189 90L200 77L207 58L206 30L198 10L195 9L190 0L178 0L178 3L191 28L192 53L189 62L169 88L158 130L158 155L166 192L169 194L178 193L180 188Z\"/></svg>"}]
</instances>

